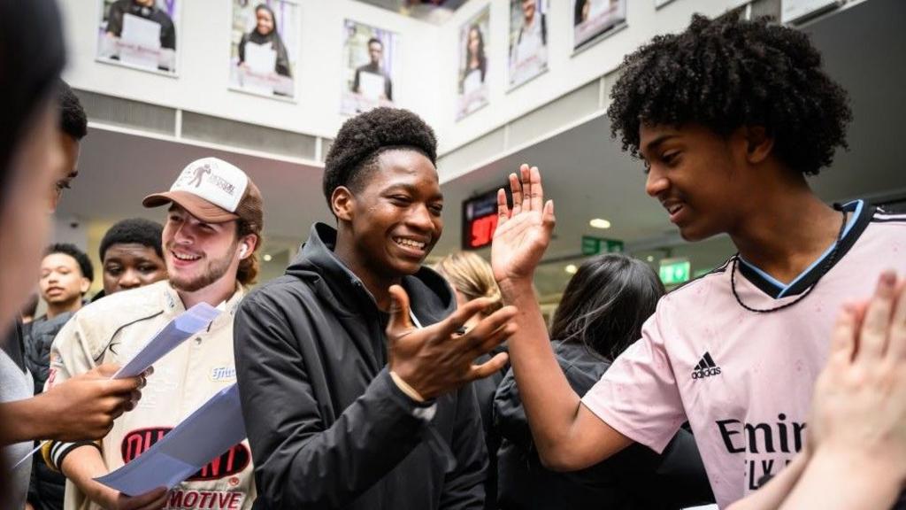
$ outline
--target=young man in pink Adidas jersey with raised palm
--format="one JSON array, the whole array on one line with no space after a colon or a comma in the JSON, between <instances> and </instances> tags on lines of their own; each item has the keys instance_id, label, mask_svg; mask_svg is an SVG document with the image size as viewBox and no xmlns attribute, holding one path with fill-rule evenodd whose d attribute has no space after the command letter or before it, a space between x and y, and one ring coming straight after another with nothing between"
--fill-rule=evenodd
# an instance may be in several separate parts
<instances>
[{"instance_id":1,"label":"young man in pink Adidas jersey with raised palm","mask_svg":"<svg viewBox=\"0 0 906 510\"><path fill-rule=\"evenodd\" d=\"M628 55L612 98L613 133L645 162L645 191L682 237L727 233L738 253L661 299L642 338L580 399L532 292L554 207L524 165L510 176L512 211L499 193L492 250L522 316L509 342L516 381L547 466L591 466L632 442L660 452L688 420L726 506L804 448L834 317L868 298L881 270L906 271L906 217L863 201L832 208L809 188L805 176L845 146L851 112L801 32L695 16Z\"/></svg>"}]
</instances>

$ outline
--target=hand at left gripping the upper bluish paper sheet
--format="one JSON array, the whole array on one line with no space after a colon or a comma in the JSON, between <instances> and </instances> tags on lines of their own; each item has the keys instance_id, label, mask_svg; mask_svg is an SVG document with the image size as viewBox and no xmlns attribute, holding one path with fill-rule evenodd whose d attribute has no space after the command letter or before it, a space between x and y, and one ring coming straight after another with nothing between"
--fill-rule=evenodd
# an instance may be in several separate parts
<instances>
[{"instance_id":1,"label":"hand at left gripping the upper bluish paper sheet","mask_svg":"<svg viewBox=\"0 0 906 510\"><path fill-rule=\"evenodd\" d=\"M101 439L113 427L113 420L136 406L150 371L137 378L111 379L118 368L101 365L35 397L42 400L48 417L53 416L57 431L51 438Z\"/></svg>"}]
</instances>

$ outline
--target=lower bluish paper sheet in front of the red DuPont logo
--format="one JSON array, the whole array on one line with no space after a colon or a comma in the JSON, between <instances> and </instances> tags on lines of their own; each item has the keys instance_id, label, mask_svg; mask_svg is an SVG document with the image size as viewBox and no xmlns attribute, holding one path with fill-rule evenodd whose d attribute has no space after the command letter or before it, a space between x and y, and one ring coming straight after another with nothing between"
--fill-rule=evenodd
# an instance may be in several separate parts
<instances>
[{"instance_id":1,"label":"lower bluish paper sheet in front of the red DuPont logo","mask_svg":"<svg viewBox=\"0 0 906 510\"><path fill-rule=\"evenodd\" d=\"M96 481L125 495L173 488L246 438L239 388L231 385L211 397L154 446L126 466Z\"/></svg>"}]
</instances>

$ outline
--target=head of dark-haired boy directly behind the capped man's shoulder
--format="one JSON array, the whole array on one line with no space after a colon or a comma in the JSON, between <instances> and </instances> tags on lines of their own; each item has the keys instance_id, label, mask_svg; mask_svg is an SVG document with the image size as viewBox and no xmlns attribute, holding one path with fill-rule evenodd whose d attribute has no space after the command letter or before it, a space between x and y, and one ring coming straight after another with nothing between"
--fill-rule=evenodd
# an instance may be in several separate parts
<instances>
[{"instance_id":1,"label":"head of dark-haired boy directly behind the capped man's shoulder","mask_svg":"<svg viewBox=\"0 0 906 510\"><path fill-rule=\"evenodd\" d=\"M99 250L104 288L92 302L120 290L138 289L167 279L167 264L160 246L163 229L157 221L131 218L107 230Z\"/></svg>"}]
</instances>

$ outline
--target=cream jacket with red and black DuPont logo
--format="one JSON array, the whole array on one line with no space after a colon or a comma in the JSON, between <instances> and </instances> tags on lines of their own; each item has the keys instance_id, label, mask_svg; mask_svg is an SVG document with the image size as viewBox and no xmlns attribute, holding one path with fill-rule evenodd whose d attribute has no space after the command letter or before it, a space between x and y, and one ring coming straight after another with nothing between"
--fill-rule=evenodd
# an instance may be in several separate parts
<instances>
[{"instance_id":1,"label":"cream jacket with red and black DuPont logo","mask_svg":"<svg viewBox=\"0 0 906 510\"><path fill-rule=\"evenodd\" d=\"M243 297L236 289L226 310L207 331L189 338L154 365L138 407L123 414L101 440L101 456L112 471L139 456L166 432L236 382L233 316ZM53 340L46 387L103 363L129 361L155 333L185 311L176 290L160 281L118 292L79 310ZM211 430L217 434L217 430ZM58 468L63 457L83 444L51 443L45 460ZM173 488L170 509L246 510L255 500L252 456L244 440ZM65 510L97 510L72 482L66 482Z\"/></svg>"}]
</instances>

